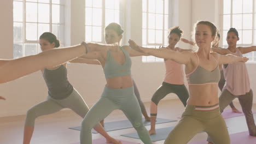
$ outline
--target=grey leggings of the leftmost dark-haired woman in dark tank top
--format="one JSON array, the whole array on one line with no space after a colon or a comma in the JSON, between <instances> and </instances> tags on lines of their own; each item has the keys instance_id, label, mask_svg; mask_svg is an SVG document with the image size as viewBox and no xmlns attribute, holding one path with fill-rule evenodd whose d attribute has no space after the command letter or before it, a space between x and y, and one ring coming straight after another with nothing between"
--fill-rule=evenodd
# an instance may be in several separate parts
<instances>
[{"instance_id":1,"label":"grey leggings of the leftmost dark-haired woman in dark tank top","mask_svg":"<svg viewBox=\"0 0 256 144\"><path fill-rule=\"evenodd\" d=\"M84 118L86 113L89 111L89 108L85 104L84 99L75 89L73 89L71 95L65 99L56 100L48 96L47 100L31 107L31 109L27 111L25 125L34 127L34 121L37 117L49 115L64 108L73 110L82 118Z\"/></svg>"}]
</instances>

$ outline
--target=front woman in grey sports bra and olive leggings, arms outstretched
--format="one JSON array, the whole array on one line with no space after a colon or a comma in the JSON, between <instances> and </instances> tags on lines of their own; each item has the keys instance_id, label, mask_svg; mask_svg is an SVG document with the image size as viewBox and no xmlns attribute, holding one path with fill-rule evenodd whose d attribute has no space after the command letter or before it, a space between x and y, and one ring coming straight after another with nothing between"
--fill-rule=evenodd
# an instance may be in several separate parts
<instances>
[{"instance_id":1,"label":"front woman in grey sports bra and olive leggings, arms outstretched","mask_svg":"<svg viewBox=\"0 0 256 144\"><path fill-rule=\"evenodd\" d=\"M196 45L199 47L197 52L149 49L138 46L132 40L129 43L132 49L139 52L185 64L190 96L181 121L168 135L165 143L185 144L199 131L205 131L211 136L214 143L229 144L229 133L219 111L220 71L218 64L246 62L248 58L211 53L211 44L217 33L217 28L213 23L199 21L195 24L194 31Z\"/></svg>"}]
</instances>

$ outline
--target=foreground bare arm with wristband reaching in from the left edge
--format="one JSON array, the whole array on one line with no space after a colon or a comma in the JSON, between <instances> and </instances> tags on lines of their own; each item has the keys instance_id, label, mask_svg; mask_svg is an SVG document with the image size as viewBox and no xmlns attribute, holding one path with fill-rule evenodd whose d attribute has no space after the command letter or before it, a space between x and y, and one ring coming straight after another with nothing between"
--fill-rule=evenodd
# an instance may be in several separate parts
<instances>
[{"instance_id":1,"label":"foreground bare arm with wristband reaching in from the left edge","mask_svg":"<svg viewBox=\"0 0 256 144\"><path fill-rule=\"evenodd\" d=\"M37 55L18 59L2 59L0 60L0 83L18 79L40 69L61 65L85 53L86 49L84 45L76 45L62 49L48 50Z\"/></svg>"}]
</instances>

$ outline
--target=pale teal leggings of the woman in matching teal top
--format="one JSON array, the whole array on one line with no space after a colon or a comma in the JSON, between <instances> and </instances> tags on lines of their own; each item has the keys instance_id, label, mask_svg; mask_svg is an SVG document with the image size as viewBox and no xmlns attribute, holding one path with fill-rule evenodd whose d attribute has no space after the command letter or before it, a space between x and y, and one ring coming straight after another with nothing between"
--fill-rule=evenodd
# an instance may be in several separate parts
<instances>
[{"instance_id":1,"label":"pale teal leggings of the woman in matching teal top","mask_svg":"<svg viewBox=\"0 0 256 144\"><path fill-rule=\"evenodd\" d=\"M82 122L80 133L81 144L91 144L91 129L107 117L113 110L122 110L137 130L139 138L146 144L152 143L147 129L142 122L141 109L135 97L133 87L113 89L105 87L100 100L91 107Z\"/></svg>"}]
</instances>

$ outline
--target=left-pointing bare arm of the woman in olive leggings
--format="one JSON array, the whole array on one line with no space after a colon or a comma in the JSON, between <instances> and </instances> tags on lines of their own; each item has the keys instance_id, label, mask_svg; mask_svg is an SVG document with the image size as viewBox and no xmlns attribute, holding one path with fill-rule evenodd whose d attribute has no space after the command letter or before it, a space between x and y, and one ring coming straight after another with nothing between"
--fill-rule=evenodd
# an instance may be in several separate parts
<instances>
[{"instance_id":1,"label":"left-pointing bare arm of the woman in olive leggings","mask_svg":"<svg viewBox=\"0 0 256 144\"><path fill-rule=\"evenodd\" d=\"M138 46L133 40L129 40L129 44L132 49L139 51L141 53L146 53L148 55L159 58L171 59L172 61L175 61L180 64L188 64L190 62L191 55L193 55L192 52L176 52L170 51L168 49L145 48Z\"/></svg>"}]
</instances>

